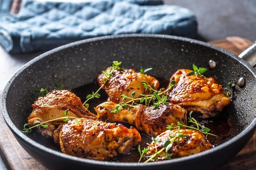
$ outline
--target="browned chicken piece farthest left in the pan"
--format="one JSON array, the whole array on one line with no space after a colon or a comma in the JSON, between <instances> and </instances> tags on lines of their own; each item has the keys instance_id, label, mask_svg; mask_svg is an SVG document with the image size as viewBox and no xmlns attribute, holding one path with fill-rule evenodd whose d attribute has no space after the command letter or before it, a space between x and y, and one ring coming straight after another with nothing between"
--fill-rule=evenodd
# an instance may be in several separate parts
<instances>
[{"instance_id":1,"label":"browned chicken piece farthest left in the pan","mask_svg":"<svg viewBox=\"0 0 256 170\"><path fill-rule=\"evenodd\" d=\"M95 119L95 115L83 106L81 99L74 93L67 90L54 90L45 97L39 97L32 104L32 112L28 117L28 123L32 126L35 120L40 122L63 117L64 111L69 109L68 116L73 117L91 117ZM43 136L52 137L55 126L62 124L63 120L52 121L46 123L47 128L38 129Z\"/></svg>"}]
</instances>

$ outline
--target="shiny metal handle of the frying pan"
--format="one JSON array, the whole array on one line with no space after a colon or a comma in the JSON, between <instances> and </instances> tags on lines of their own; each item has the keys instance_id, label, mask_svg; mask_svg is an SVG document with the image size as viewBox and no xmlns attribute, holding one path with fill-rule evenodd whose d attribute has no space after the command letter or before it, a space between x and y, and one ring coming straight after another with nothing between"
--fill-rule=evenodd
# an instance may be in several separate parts
<instances>
[{"instance_id":1,"label":"shiny metal handle of the frying pan","mask_svg":"<svg viewBox=\"0 0 256 170\"><path fill-rule=\"evenodd\" d=\"M256 66L256 41L249 46L245 51L238 55L238 57L247 61L253 67Z\"/></svg>"}]
</instances>

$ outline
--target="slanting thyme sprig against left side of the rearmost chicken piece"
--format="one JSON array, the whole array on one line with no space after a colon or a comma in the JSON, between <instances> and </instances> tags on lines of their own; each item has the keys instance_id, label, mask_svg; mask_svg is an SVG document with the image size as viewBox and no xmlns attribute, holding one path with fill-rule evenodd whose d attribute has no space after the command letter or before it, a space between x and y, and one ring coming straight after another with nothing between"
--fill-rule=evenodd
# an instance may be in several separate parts
<instances>
[{"instance_id":1,"label":"slanting thyme sprig against left side of the rearmost chicken piece","mask_svg":"<svg viewBox=\"0 0 256 170\"><path fill-rule=\"evenodd\" d=\"M106 76L105 78L103 78L103 84L98 88L98 90L94 93L94 91L92 92L92 94L89 94L86 96L86 101L83 103L83 105L88 108L89 104L87 103L90 99L94 99L94 98L99 98L101 95L99 94L99 91L101 90L101 88L103 88L106 84L106 82L108 81L108 79L110 77L112 77L112 71L114 70L118 70L119 69L119 65L122 62L118 62L118 61L113 61L112 62L112 66L110 67L109 71L102 71L102 73Z\"/></svg>"}]
</instances>

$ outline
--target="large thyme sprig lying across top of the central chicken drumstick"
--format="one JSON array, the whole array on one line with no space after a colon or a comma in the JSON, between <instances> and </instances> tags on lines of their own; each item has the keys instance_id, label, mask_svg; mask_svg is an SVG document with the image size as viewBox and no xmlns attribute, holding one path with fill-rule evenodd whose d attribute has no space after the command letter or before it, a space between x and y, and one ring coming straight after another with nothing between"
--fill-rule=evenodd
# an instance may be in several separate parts
<instances>
[{"instance_id":1,"label":"large thyme sprig lying across top of the central chicken drumstick","mask_svg":"<svg viewBox=\"0 0 256 170\"><path fill-rule=\"evenodd\" d=\"M133 108L133 105L137 105L139 103L145 103L146 106L149 106L151 101L153 102L153 106L155 106L154 109L159 108L160 104L170 105L167 101L168 95L166 95L166 92L170 91L173 86L175 85L175 81L171 81L169 87L165 91L156 91L153 89L150 85L148 85L147 82L142 81L141 82L146 91L154 91L151 95L142 95L142 97L134 98L135 91L131 93L131 97L128 97L126 95L121 95L123 97L123 100L128 100L127 102L121 102L115 106L115 109L111 111L111 113L118 113L124 108Z\"/></svg>"}]
</instances>

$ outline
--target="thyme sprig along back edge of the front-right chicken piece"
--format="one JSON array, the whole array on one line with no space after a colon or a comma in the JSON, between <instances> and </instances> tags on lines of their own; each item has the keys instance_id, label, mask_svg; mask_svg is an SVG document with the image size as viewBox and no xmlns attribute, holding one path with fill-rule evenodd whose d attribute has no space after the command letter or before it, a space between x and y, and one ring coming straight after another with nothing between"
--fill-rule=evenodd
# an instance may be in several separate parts
<instances>
[{"instance_id":1,"label":"thyme sprig along back edge of the front-right chicken piece","mask_svg":"<svg viewBox=\"0 0 256 170\"><path fill-rule=\"evenodd\" d=\"M198 121L195 120L195 118L193 118L191 115L192 115L193 111L191 111L189 113L189 122L191 122L192 124L194 124L193 126L186 126L186 125L183 125L181 124L179 121L178 121L178 126L175 126L174 124L171 124L171 125L168 125L166 127L166 129L175 129L175 128L178 128L178 127L185 127L185 128L189 128L189 129L194 129L194 130L198 130L199 132L203 133L204 135L211 135L211 136L214 136L214 137L218 137L217 135L214 135L212 133L209 133L211 131L211 129L205 127L204 125L201 125L198 123ZM194 127L195 126L195 127Z\"/></svg>"}]
</instances>

